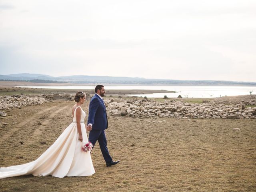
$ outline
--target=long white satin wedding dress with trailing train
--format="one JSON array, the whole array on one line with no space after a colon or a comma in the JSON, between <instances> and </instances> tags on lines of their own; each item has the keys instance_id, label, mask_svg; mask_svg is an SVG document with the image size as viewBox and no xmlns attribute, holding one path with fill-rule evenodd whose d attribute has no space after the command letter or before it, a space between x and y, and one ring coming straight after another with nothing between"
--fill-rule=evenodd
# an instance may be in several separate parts
<instances>
[{"instance_id":1,"label":"long white satin wedding dress with trailing train","mask_svg":"<svg viewBox=\"0 0 256 192\"><path fill-rule=\"evenodd\" d=\"M94 174L95 170L92 165L90 152L82 151L82 145L88 142L83 122L86 115L82 110L80 123L83 141L81 142L78 140L76 109L73 122L37 160L22 165L2 167L0 168L0 178L29 174L34 176L52 175L59 178L65 176L90 176Z\"/></svg>"}]
</instances>

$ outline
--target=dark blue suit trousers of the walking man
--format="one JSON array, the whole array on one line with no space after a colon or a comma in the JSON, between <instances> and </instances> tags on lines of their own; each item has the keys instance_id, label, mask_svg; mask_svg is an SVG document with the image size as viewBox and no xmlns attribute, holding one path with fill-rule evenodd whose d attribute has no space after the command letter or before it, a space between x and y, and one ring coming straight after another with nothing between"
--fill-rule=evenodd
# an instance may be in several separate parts
<instances>
[{"instance_id":1,"label":"dark blue suit trousers of the walking man","mask_svg":"<svg viewBox=\"0 0 256 192\"><path fill-rule=\"evenodd\" d=\"M89 133L88 140L93 145L95 145L96 141L98 140L99 145L100 145L100 150L102 152L104 160L106 161L106 163L110 163L112 161L112 158L111 158L111 156L108 152L105 130L94 130L94 129L92 129Z\"/></svg>"}]
</instances>

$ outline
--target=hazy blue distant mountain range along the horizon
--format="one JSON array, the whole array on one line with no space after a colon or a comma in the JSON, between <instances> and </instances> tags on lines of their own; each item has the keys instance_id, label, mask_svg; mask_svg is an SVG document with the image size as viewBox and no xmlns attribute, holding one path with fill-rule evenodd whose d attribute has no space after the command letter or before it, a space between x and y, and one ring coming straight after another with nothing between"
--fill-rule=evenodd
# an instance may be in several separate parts
<instances>
[{"instance_id":1,"label":"hazy blue distant mountain range along the horizon","mask_svg":"<svg viewBox=\"0 0 256 192\"><path fill-rule=\"evenodd\" d=\"M111 77L111 76L87 76L73 75L53 77L43 74L10 74L0 75L0 80L4 81L27 81L42 83L93 83L93 84L150 84L150 85L183 85L183 86L256 86L256 82L236 82L236 81L213 81L213 80L168 80L168 79L146 79L132 77Z\"/></svg>"}]
</instances>

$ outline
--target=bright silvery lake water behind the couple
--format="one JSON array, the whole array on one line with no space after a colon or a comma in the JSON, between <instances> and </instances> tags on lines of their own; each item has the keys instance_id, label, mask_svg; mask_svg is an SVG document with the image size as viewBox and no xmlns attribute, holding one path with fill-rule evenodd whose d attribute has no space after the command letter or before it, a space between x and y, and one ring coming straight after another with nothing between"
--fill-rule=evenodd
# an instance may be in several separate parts
<instances>
[{"instance_id":1,"label":"bright silvery lake water behind the couple","mask_svg":"<svg viewBox=\"0 0 256 192\"><path fill-rule=\"evenodd\" d=\"M95 86L20 86L29 88L44 89L74 89L74 90L94 90ZM163 98L165 95L169 98L182 97L188 98L215 98L220 96L248 95L249 91L256 94L256 87L251 86L105 86L108 90L167 90L176 91L176 93L154 93L130 96L146 96L148 98Z\"/></svg>"}]
</instances>

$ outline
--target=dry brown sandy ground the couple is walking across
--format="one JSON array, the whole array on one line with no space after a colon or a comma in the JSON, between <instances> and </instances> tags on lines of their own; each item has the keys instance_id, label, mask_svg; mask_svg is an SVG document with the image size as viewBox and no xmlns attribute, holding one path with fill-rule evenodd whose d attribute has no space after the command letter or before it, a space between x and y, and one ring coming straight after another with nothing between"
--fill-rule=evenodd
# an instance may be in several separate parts
<instances>
[{"instance_id":1,"label":"dry brown sandy ground the couple is walking across","mask_svg":"<svg viewBox=\"0 0 256 192\"><path fill-rule=\"evenodd\" d=\"M55 100L6 111L8 116L0 118L0 166L38 158L72 122L73 104ZM84 110L88 112L88 103ZM0 180L0 191L256 189L256 120L110 116L106 135L110 154L121 161L116 166L106 167L96 144L92 152L96 170L93 176L5 178Z\"/></svg>"}]
</instances>

